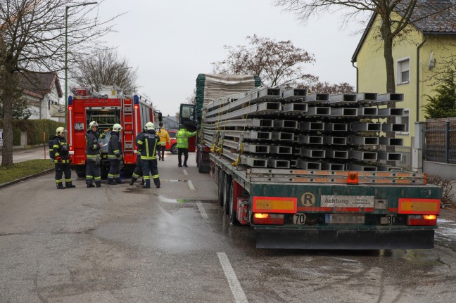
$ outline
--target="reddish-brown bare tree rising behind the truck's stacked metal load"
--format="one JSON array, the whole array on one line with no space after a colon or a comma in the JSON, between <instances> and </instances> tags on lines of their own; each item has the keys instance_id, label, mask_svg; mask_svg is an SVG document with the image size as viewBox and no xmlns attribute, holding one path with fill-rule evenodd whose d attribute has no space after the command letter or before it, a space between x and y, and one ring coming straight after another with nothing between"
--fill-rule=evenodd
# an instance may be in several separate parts
<instances>
[{"instance_id":1,"label":"reddish-brown bare tree rising behind the truck's stacked metal load","mask_svg":"<svg viewBox=\"0 0 456 303\"><path fill-rule=\"evenodd\" d=\"M306 84L318 77L303 73L305 63L315 62L312 54L293 46L291 41L275 41L256 34L246 37L248 46L224 46L225 60L211 63L213 72L220 74L258 75L263 84Z\"/></svg>"}]
</instances>

